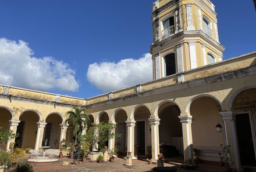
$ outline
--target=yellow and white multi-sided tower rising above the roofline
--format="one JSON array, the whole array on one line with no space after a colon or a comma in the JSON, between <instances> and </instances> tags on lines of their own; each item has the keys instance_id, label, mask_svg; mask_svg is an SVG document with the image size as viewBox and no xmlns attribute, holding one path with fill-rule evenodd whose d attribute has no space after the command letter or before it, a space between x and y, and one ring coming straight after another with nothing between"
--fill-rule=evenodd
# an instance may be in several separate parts
<instances>
[{"instance_id":1,"label":"yellow and white multi-sided tower rising above the roofline","mask_svg":"<svg viewBox=\"0 0 256 172\"><path fill-rule=\"evenodd\" d=\"M153 78L176 75L222 61L215 6L209 0L158 0L153 3Z\"/></svg>"}]
</instances>

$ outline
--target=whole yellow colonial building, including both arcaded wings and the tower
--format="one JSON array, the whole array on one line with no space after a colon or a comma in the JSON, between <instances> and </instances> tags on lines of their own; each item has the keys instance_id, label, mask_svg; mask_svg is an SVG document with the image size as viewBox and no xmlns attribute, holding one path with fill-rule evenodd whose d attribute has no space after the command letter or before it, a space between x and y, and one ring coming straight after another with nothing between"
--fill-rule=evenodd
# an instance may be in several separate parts
<instances>
[{"instance_id":1,"label":"whole yellow colonial building, including both arcaded wings and the tower","mask_svg":"<svg viewBox=\"0 0 256 172\"><path fill-rule=\"evenodd\" d=\"M158 0L152 9L151 82L91 98L74 98L0 85L0 126L19 133L19 146L58 148L72 140L64 122L72 107L86 107L94 123L116 124L122 137L109 148L158 159L218 162L230 145L232 167L256 164L256 52L222 61L215 6L208 0ZM218 125L220 124L220 125ZM217 132L215 127L222 127ZM151 148L151 149L150 149Z\"/></svg>"}]
</instances>

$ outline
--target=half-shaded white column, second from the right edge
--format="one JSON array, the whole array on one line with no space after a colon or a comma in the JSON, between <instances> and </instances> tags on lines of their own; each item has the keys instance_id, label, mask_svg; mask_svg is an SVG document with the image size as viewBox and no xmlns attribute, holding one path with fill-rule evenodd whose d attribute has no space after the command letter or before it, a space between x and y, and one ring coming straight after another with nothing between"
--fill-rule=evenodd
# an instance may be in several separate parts
<instances>
[{"instance_id":1,"label":"half-shaded white column, second from the right edge","mask_svg":"<svg viewBox=\"0 0 256 172\"><path fill-rule=\"evenodd\" d=\"M183 135L183 148L184 148L184 160L193 159L193 140L191 131L192 116L182 115L178 116L182 123L182 135Z\"/></svg>"}]
</instances>

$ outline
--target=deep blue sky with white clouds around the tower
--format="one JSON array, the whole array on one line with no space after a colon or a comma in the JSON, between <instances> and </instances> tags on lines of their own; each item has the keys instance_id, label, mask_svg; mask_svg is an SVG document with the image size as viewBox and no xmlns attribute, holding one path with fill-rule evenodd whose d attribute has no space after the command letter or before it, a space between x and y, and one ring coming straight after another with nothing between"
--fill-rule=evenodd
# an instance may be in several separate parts
<instances>
[{"instance_id":1,"label":"deep blue sky with white clouds around the tower","mask_svg":"<svg viewBox=\"0 0 256 172\"><path fill-rule=\"evenodd\" d=\"M88 98L151 80L153 2L2 0L0 84ZM255 51L253 1L212 2L223 59Z\"/></svg>"}]
</instances>

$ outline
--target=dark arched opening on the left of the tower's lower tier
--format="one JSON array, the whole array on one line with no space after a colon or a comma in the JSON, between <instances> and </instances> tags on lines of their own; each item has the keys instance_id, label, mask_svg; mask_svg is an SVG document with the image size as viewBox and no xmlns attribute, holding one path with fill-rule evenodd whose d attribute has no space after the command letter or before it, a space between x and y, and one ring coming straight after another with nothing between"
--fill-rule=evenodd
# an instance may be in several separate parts
<instances>
[{"instance_id":1,"label":"dark arched opening on the left of the tower's lower tier","mask_svg":"<svg viewBox=\"0 0 256 172\"><path fill-rule=\"evenodd\" d=\"M175 53L167 54L165 60L165 76L176 74Z\"/></svg>"}]
</instances>

